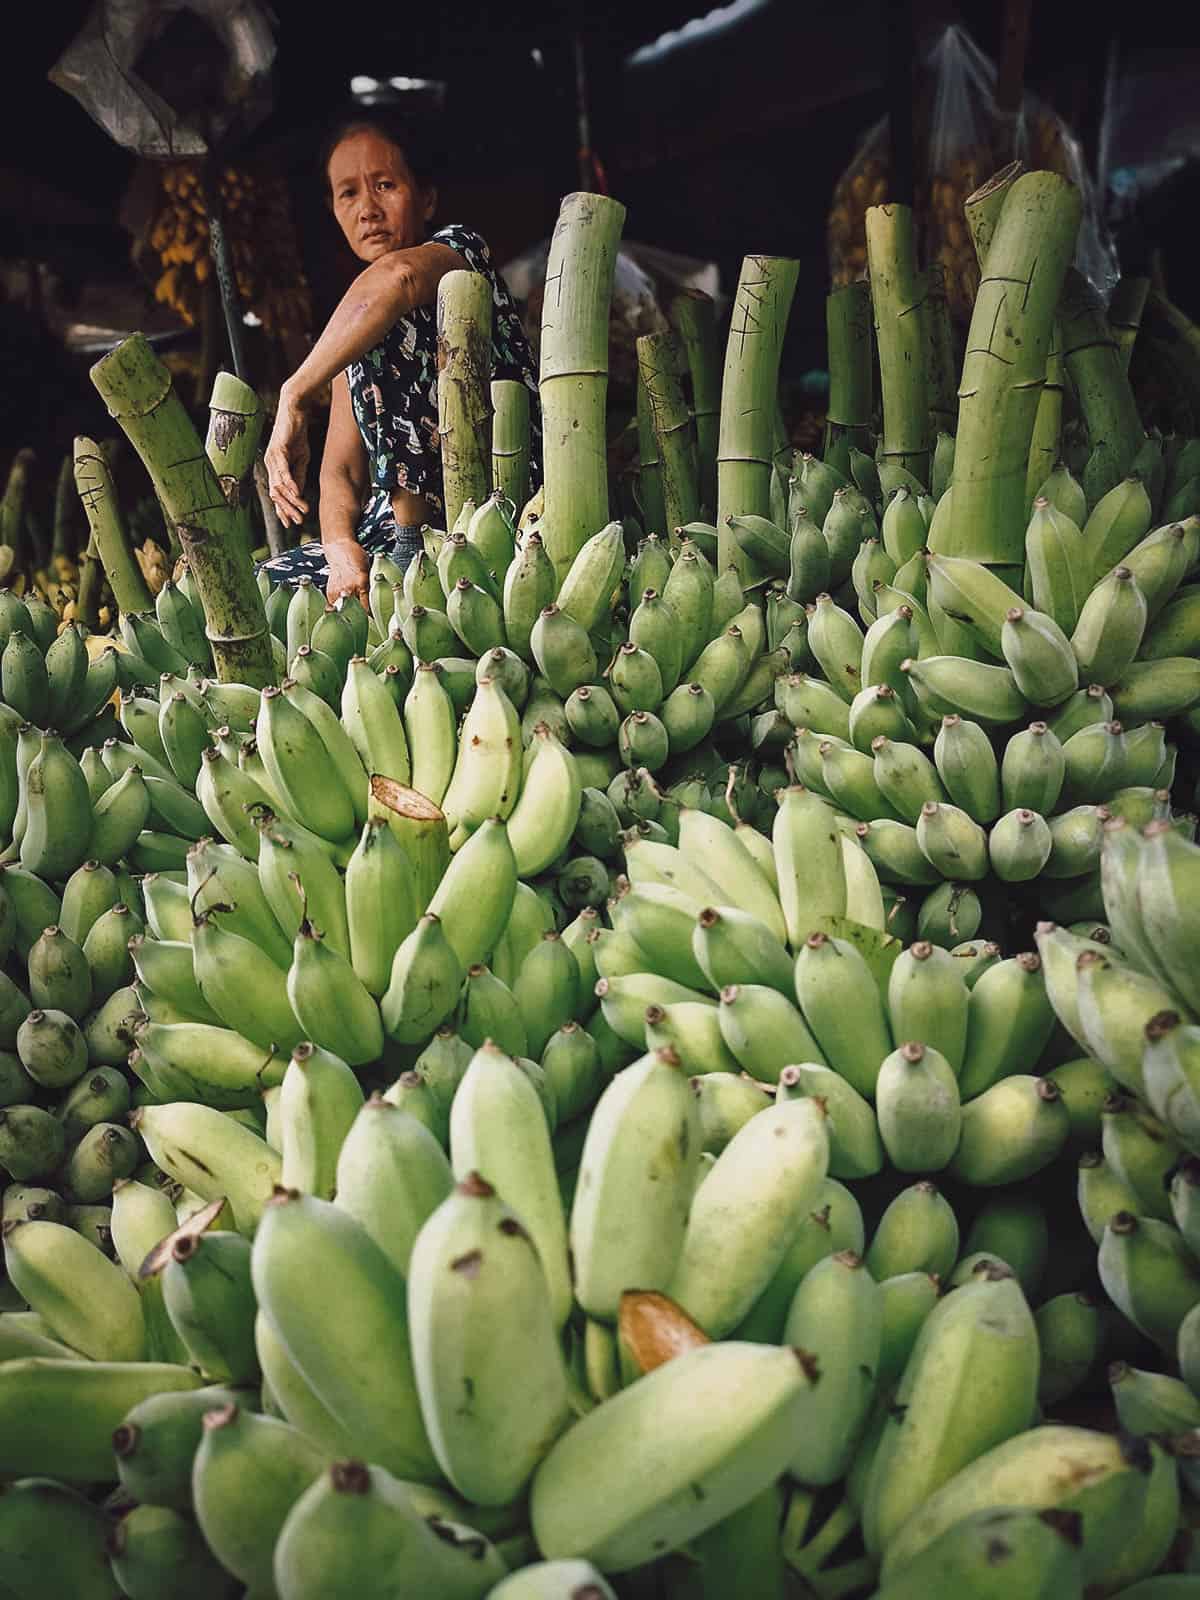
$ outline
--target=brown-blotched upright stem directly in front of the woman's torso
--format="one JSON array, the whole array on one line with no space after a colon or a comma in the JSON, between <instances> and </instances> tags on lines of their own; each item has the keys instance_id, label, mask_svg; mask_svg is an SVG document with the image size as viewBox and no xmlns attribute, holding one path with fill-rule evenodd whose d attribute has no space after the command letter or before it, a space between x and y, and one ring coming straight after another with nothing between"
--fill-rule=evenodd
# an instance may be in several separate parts
<instances>
[{"instance_id":1,"label":"brown-blotched upright stem directly in front of the woman's torso","mask_svg":"<svg viewBox=\"0 0 1200 1600\"><path fill-rule=\"evenodd\" d=\"M491 493L491 285L448 272L437 286L437 429L446 528Z\"/></svg>"}]
</instances>

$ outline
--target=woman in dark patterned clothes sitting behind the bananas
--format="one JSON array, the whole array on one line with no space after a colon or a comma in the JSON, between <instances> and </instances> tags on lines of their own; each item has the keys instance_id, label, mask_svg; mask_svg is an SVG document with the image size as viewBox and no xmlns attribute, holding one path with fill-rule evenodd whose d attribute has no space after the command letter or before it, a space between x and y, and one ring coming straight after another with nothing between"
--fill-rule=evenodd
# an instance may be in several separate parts
<instances>
[{"instance_id":1,"label":"woman in dark patterned clothes sitting behind the bananas","mask_svg":"<svg viewBox=\"0 0 1200 1600\"><path fill-rule=\"evenodd\" d=\"M330 205L365 262L301 366L280 389L266 450L270 499L288 526L309 510L309 411L331 382L320 466L320 544L264 563L272 584L307 574L330 602L368 603L371 555L400 565L421 549L422 523L442 518L437 430L437 286L469 269L491 283L493 378L531 392L531 467L541 459L538 381L520 315L488 246L458 222L430 232L434 170L418 134L387 115L342 125L323 160Z\"/></svg>"}]
</instances>

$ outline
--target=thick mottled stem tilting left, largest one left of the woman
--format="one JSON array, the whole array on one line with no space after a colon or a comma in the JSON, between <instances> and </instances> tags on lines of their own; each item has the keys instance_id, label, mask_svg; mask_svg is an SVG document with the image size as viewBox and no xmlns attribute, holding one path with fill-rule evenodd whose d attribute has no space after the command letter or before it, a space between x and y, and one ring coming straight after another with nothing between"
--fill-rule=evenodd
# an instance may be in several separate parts
<instances>
[{"instance_id":1,"label":"thick mottled stem tilting left, largest one left of the woman","mask_svg":"<svg viewBox=\"0 0 1200 1600\"><path fill-rule=\"evenodd\" d=\"M216 675L261 688L275 682L270 630L254 566L171 374L134 333L91 368L109 414L141 456L195 578Z\"/></svg>"}]
</instances>

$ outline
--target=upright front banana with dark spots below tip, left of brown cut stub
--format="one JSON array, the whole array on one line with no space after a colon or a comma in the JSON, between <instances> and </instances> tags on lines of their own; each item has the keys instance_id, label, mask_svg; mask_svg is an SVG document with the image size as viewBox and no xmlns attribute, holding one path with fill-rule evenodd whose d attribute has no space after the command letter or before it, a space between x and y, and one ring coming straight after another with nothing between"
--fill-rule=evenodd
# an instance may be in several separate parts
<instances>
[{"instance_id":1,"label":"upright front banana with dark spots below tip, left of brown cut stub","mask_svg":"<svg viewBox=\"0 0 1200 1600\"><path fill-rule=\"evenodd\" d=\"M442 1470L466 1499L504 1506L566 1427L570 1405L538 1250L478 1173L418 1234L408 1317L421 1413Z\"/></svg>"}]
</instances>

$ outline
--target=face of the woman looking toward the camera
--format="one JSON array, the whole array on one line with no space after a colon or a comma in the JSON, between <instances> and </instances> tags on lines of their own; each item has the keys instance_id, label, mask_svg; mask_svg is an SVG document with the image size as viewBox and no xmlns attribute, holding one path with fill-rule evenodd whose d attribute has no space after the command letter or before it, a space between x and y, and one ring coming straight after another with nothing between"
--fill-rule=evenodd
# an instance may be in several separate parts
<instances>
[{"instance_id":1,"label":"face of the woman looking toward the camera","mask_svg":"<svg viewBox=\"0 0 1200 1600\"><path fill-rule=\"evenodd\" d=\"M328 165L333 214L360 261L419 245L437 192L422 189L405 152L382 134L352 133L334 146Z\"/></svg>"}]
</instances>

